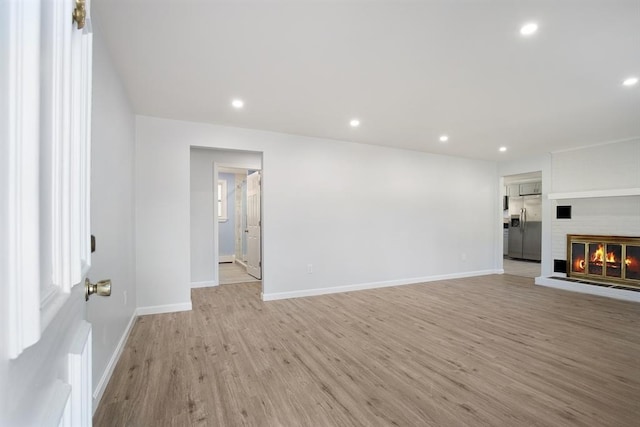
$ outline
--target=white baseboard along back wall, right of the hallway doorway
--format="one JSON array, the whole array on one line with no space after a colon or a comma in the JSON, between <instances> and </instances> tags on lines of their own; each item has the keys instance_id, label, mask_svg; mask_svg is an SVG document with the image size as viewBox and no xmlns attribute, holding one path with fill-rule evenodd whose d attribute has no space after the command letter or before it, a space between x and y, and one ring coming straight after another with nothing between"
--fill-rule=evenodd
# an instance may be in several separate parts
<instances>
[{"instance_id":1,"label":"white baseboard along back wall, right of the hallway doorway","mask_svg":"<svg viewBox=\"0 0 640 427\"><path fill-rule=\"evenodd\" d=\"M383 282L361 283L357 285L332 286L330 288L304 289L290 292L262 293L263 301L275 301L279 299L311 297L316 295L335 294L340 292L362 291L365 289L386 288L389 286L414 285L424 282L435 282L438 280L461 279L464 277L486 276L488 274L499 274L500 270L479 270L464 273L441 274L437 276L414 277L411 279L387 280Z\"/></svg>"}]
</instances>

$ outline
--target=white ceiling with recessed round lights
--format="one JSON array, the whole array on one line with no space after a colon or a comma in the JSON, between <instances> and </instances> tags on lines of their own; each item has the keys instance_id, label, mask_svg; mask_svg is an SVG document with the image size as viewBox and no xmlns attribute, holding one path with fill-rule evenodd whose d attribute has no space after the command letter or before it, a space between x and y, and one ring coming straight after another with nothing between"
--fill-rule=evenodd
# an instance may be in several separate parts
<instances>
[{"instance_id":1,"label":"white ceiling with recessed round lights","mask_svg":"<svg viewBox=\"0 0 640 427\"><path fill-rule=\"evenodd\" d=\"M640 0L92 7L137 114L489 160L640 136Z\"/></svg>"}]
</instances>

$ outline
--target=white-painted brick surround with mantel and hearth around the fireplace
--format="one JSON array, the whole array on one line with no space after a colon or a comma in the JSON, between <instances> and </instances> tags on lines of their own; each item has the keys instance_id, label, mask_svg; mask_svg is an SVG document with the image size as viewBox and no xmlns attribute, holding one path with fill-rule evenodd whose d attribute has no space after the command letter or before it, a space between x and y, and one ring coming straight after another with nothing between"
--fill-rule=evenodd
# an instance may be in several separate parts
<instances>
[{"instance_id":1,"label":"white-painted brick surround with mantel and hearth around the fireplace","mask_svg":"<svg viewBox=\"0 0 640 427\"><path fill-rule=\"evenodd\" d=\"M537 277L536 284L640 302L640 292L615 288L627 285L609 278L587 281L586 276L571 276L571 272L567 277L561 268L567 261L567 235L640 238L640 136L585 144L553 151L533 162L542 170L547 219L543 224L545 275ZM531 166L518 165L534 170Z\"/></svg>"}]
</instances>

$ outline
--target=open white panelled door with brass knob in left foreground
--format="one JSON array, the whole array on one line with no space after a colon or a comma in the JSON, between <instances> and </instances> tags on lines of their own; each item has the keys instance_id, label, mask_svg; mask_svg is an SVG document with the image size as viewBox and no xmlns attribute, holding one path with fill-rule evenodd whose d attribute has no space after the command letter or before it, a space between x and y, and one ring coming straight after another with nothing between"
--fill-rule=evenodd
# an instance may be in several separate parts
<instances>
[{"instance_id":1,"label":"open white panelled door with brass knob in left foreground","mask_svg":"<svg viewBox=\"0 0 640 427\"><path fill-rule=\"evenodd\" d=\"M0 2L0 425L91 425L92 36L76 6Z\"/></svg>"}]
</instances>

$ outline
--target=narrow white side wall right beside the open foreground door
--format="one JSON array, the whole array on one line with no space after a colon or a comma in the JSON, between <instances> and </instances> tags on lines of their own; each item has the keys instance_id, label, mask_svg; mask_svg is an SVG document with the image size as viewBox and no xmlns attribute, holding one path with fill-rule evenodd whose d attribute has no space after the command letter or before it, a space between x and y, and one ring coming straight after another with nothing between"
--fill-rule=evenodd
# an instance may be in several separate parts
<instances>
[{"instance_id":1,"label":"narrow white side wall right beside the open foreground door","mask_svg":"<svg viewBox=\"0 0 640 427\"><path fill-rule=\"evenodd\" d=\"M109 298L89 300L87 317L93 325L94 389L101 392L106 386L101 381L113 369L110 363L116 361L114 353L136 308L135 116L96 27L91 153L91 233L96 251L89 276L92 281L111 279L112 289Z\"/></svg>"}]
</instances>

